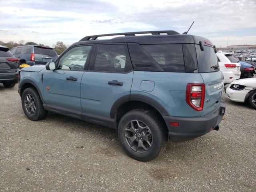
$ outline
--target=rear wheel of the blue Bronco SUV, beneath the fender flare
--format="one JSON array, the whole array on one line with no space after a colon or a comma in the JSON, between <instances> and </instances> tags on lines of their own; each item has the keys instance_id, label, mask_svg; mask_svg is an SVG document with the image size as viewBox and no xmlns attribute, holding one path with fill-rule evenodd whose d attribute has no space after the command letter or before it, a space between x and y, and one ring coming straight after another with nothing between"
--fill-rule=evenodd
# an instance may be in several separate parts
<instances>
[{"instance_id":1,"label":"rear wheel of the blue Bronco SUV, beneath the fender flare","mask_svg":"<svg viewBox=\"0 0 256 192\"><path fill-rule=\"evenodd\" d=\"M165 124L151 110L132 110L118 124L118 139L125 152L139 161L158 156L166 143Z\"/></svg>"}]
</instances>

